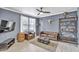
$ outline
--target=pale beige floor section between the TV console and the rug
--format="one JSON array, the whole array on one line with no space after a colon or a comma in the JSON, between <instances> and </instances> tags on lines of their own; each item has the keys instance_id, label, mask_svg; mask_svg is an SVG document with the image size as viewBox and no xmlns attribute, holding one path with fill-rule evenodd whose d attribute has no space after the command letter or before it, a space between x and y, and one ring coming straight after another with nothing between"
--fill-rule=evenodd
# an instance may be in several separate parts
<instances>
[{"instance_id":1,"label":"pale beige floor section between the TV console and the rug","mask_svg":"<svg viewBox=\"0 0 79 59\"><path fill-rule=\"evenodd\" d=\"M47 50L35 46L28 41L16 42L5 52L47 52Z\"/></svg>"}]
</instances>

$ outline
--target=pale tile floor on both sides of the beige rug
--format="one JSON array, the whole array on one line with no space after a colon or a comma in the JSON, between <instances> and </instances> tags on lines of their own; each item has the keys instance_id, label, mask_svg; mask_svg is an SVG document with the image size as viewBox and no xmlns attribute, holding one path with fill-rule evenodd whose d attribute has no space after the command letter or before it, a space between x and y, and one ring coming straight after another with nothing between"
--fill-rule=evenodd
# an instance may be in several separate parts
<instances>
[{"instance_id":1,"label":"pale tile floor on both sides of the beige rug","mask_svg":"<svg viewBox=\"0 0 79 59\"><path fill-rule=\"evenodd\" d=\"M56 52L78 52L79 51L79 45L64 43L64 42L57 42L58 43ZM38 46L35 46L28 41L24 42L16 42L14 45L12 45L8 50L4 52L49 52L43 48L40 48Z\"/></svg>"}]
</instances>

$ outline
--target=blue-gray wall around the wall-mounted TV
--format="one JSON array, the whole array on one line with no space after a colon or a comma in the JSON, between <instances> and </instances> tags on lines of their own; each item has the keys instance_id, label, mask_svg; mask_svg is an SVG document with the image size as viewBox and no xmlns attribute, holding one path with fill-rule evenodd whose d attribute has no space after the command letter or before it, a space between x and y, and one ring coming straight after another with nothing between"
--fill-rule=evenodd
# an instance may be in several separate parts
<instances>
[{"instance_id":1,"label":"blue-gray wall around the wall-mounted TV","mask_svg":"<svg viewBox=\"0 0 79 59\"><path fill-rule=\"evenodd\" d=\"M15 30L6 33L0 33L0 42L8 38L15 38L20 31L20 15L11 11L0 9L0 19L16 22Z\"/></svg>"}]
</instances>

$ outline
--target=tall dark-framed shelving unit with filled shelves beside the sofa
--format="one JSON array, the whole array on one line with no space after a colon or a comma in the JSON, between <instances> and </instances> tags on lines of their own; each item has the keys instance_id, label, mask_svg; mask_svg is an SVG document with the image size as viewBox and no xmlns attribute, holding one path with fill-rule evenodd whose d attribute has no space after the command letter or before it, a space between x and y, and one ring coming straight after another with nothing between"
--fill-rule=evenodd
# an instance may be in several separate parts
<instances>
[{"instance_id":1,"label":"tall dark-framed shelving unit with filled shelves beside the sofa","mask_svg":"<svg viewBox=\"0 0 79 59\"><path fill-rule=\"evenodd\" d=\"M59 19L60 41L77 43L77 17Z\"/></svg>"}]
</instances>

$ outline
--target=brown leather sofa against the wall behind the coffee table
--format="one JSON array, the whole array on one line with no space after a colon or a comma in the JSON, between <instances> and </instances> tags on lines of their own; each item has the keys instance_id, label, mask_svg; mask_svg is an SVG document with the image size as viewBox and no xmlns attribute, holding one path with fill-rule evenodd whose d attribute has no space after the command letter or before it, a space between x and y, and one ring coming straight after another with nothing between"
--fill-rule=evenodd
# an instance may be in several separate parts
<instances>
[{"instance_id":1,"label":"brown leather sofa against the wall behind the coffee table","mask_svg":"<svg viewBox=\"0 0 79 59\"><path fill-rule=\"evenodd\" d=\"M58 32L41 32L41 37L49 37L50 40L58 40L59 34Z\"/></svg>"}]
</instances>

